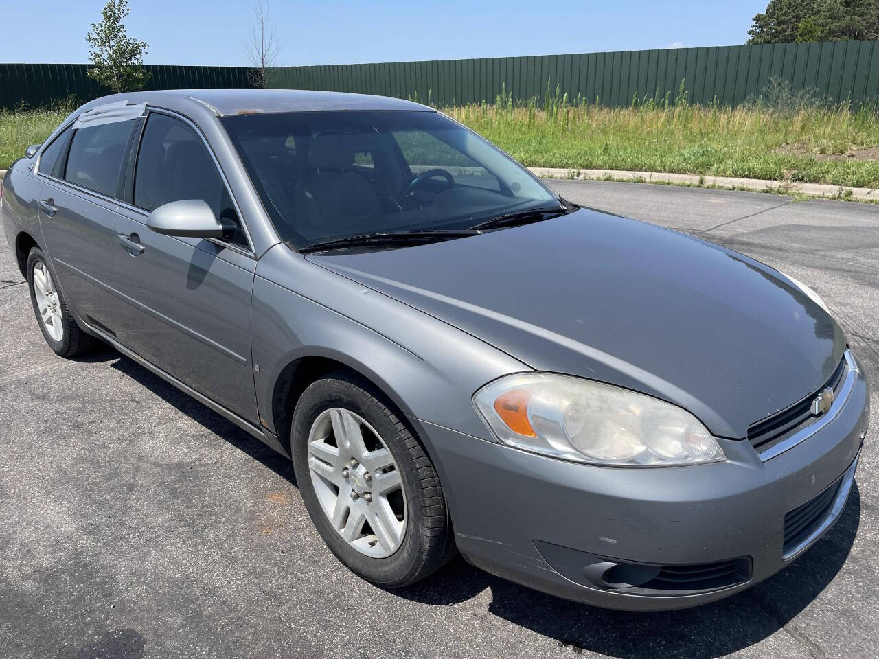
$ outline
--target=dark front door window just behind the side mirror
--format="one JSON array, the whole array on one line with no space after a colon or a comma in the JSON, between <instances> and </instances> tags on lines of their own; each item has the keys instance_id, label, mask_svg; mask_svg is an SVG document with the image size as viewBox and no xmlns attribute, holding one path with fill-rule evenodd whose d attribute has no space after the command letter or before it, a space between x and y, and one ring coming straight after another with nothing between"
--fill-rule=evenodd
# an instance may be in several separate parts
<instances>
[{"instance_id":1,"label":"dark front door window just behind the side mirror","mask_svg":"<svg viewBox=\"0 0 879 659\"><path fill-rule=\"evenodd\" d=\"M134 206L152 211L182 199L203 199L218 219L235 223L231 242L247 246L232 198L204 142L179 119L154 112L137 156Z\"/></svg>"}]
</instances>

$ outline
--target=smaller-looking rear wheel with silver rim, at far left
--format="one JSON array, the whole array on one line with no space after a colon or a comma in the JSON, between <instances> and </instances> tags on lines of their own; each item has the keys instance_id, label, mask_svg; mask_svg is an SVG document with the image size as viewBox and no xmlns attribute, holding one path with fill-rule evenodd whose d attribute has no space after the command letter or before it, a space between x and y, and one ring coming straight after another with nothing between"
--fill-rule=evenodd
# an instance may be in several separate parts
<instances>
[{"instance_id":1,"label":"smaller-looking rear wheel with silver rim, at far left","mask_svg":"<svg viewBox=\"0 0 879 659\"><path fill-rule=\"evenodd\" d=\"M76 324L57 286L54 271L39 247L34 247L27 255L26 272L33 313L49 347L62 357L75 357L90 351L96 339Z\"/></svg>"}]
</instances>

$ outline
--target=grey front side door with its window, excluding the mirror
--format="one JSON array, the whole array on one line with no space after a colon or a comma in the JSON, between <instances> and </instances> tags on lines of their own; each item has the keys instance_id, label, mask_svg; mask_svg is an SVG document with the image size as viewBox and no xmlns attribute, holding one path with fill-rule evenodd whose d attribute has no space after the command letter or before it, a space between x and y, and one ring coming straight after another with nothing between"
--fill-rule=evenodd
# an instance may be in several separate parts
<instances>
[{"instance_id":1,"label":"grey front side door with its window, excluding the mirror","mask_svg":"<svg viewBox=\"0 0 879 659\"><path fill-rule=\"evenodd\" d=\"M149 112L125 196L113 239L114 285L129 308L120 342L256 422L250 324L256 260L197 128L171 113ZM147 228L150 211L181 199L203 199L218 218L236 223L235 235L207 240Z\"/></svg>"}]
</instances>

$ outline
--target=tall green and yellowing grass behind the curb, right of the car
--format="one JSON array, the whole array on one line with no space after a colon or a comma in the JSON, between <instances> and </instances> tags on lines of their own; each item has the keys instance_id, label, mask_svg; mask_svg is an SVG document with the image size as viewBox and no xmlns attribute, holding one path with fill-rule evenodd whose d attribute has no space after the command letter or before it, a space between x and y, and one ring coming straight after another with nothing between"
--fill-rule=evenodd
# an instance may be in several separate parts
<instances>
[{"instance_id":1,"label":"tall green and yellowing grass behind the curb, right of the car","mask_svg":"<svg viewBox=\"0 0 879 659\"><path fill-rule=\"evenodd\" d=\"M514 103L444 108L528 166L672 171L879 187L879 160L845 156L879 146L879 109L752 99L730 108L633 99L609 108L548 93ZM831 157L828 157L831 156Z\"/></svg>"}]
</instances>

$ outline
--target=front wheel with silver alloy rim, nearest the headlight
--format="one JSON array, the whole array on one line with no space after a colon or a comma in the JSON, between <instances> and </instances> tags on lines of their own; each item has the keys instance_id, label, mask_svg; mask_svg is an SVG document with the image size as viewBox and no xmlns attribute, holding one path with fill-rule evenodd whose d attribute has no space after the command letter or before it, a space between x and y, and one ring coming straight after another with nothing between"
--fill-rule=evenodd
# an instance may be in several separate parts
<instances>
[{"instance_id":1,"label":"front wheel with silver alloy rim, nearest the headlight","mask_svg":"<svg viewBox=\"0 0 879 659\"><path fill-rule=\"evenodd\" d=\"M436 470L403 414L367 380L340 371L311 384L290 437L309 516L353 572L399 588L454 555Z\"/></svg>"}]
</instances>

